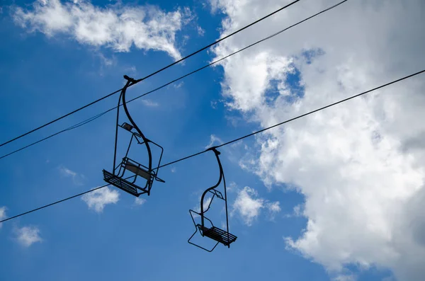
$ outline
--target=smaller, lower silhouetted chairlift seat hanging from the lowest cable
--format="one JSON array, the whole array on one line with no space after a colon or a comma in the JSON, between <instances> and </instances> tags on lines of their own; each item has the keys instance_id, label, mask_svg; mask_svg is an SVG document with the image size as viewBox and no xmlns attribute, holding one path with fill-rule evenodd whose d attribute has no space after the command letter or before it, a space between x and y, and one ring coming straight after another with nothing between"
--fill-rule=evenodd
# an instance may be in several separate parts
<instances>
[{"instance_id":1,"label":"smaller, lower silhouetted chairlift seat hanging from the lowest cable","mask_svg":"<svg viewBox=\"0 0 425 281\"><path fill-rule=\"evenodd\" d=\"M215 147L212 147L209 150L214 151L215 157L217 158L218 166L220 168L220 178L218 179L218 182L215 185L213 185L211 188L208 188L207 190L205 190L203 195L200 197L200 212L195 212L193 210L189 210L189 214L191 214L192 221L193 221L193 224L195 225L196 230L192 234L191 238L188 239L188 243L191 243L192 245L195 245L199 248L202 248L205 251L212 252L215 249L215 247L218 245L218 243L222 243L223 245L230 248L230 244L233 243L234 241L236 241L237 236L234 236L233 234L229 233L229 217L228 217L228 214L227 214L226 180L225 180L225 174L223 173L222 164L220 162L220 157L219 157L220 151L217 151L217 149L215 149ZM223 196L222 193L220 193L219 190L216 190L216 188L220 185L221 182L223 182L223 185L224 185L225 196ZM211 193L212 197L211 197L211 200L208 204L208 207L206 208L206 210L204 210L203 202L204 202L204 199L205 199L205 195L207 195L207 193ZM205 217L205 212L210 210L212 200L214 200L215 197L225 201L226 229L227 230L219 229L217 226L214 226L214 224L212 224L210 219ZM195 219L193 218L193 214L198 214L198 216L200 216L200 224L197 224L195 222ZM209 227L205 225L205 220L207 220L209 222L209 224L210 224ZM203 246L200 246L196 243L191 242L191 239L193 238L193 236L195 236L196 232L198 232L198 231L199 231L201 236L208 237L208 238L210 238L214 241L217 241L217 243L215 243L215 246L212 249L208 250L207 248L204 248Z\"/></svg>"}]
</instances>

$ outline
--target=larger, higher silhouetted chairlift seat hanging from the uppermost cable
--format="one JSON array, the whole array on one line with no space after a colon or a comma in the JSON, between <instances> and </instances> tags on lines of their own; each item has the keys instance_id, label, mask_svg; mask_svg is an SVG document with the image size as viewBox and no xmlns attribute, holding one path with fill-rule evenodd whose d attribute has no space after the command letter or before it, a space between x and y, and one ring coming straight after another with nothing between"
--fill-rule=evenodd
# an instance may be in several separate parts
<instances>
[{"instance_id":1,"label":"larger, higher silhouetted chairlift seat hanging from the uppermost cable","mask_svg":"<svg viewBox=\"0 0 425 281\"><path fill-rule=\"evenodd\" d=\"M159 146L159 144L156 144L152 142L151 140L147 139L144 134L142 134L142 131L137 127L135 122L132 120L132 117L130 116L130 113L128 113L127 104L125 101L125 91L127 90L128 86L135 83L135 80L124 76L125 79L127 79L127 83L125 84L124 88L121 90L120 98L118 100L118 108L117 108L117 122L116 122L116 130L115 130L115 151L113 156L113 171L108 172L106 170L103 170L103 180L105 180L107 183L110 183L111 185L114 185L117 188L120 188L120 190L123 190L127 193L130 193L131 195L134 195L136 197L139 197L140 195L147 193L147 195L150 195L150 190L152 188L152 183L154 180L158 180L162 183L165 183L164 180L157 177L159 166L161 165L161 159L162 159L162 153L164 149ZM122 125L119 125L119 116L120 116L120 103L121 99L123 101L123 108L125 111L125 115L127 115L128 120L131 124L128 124L124 122ZM119 128L123 128L124 130L130 132L132 134L130 139L130 144L128 144L127 152L125 153L125 156L123 157L123 161L121 161L118 165L116 165L116 157L117 157L117 142L118 142L118 130ZM135 144L144 144L147 149L147 155L148 155L148 164L147 166L142 165L138 163L137 161L134 161L128 157L128 153L130 151L130 147L135 140ZM155 146L159 147L161 149L161 155L159 156L158 166L156 168L152 168L152 151L150 144L154 144ZM130 173L130 176L128 174ZM145 180L144 187L143 185L139 184L139 178L143 178Z\"/></svg>"}]
</instances>

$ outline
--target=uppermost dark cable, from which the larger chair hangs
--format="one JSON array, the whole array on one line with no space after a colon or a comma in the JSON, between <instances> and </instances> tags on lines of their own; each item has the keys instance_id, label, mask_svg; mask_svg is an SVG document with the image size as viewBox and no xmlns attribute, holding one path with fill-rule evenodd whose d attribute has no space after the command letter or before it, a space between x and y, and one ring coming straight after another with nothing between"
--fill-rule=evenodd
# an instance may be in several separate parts
<instances>
[{"instance_id":1,"label":"uppermost dark cable, from which the larger chair hangs","mask_svg":"<svg viewBox=\"0 0 425 281\"><path fill-rule=\"evenodd\" d=\"M225 37L220 38L219 40L216 40L215 42L212 42L212 43L210 43L209 45L206 45L205 47L200 48L200 49L199 49L199 50L197 50L196 52L193 52L193 53L191 53L191 54L187 55L186 57L182 57L181 59L177 60L176 62L173 62L172 64L169 64L169 65L167 65L166 67L163 67L162 69L159 69L159 70L157 70L157 71L154 71L154 72L152 72L151 74L149 74L149 75L147 75L147 76L145 76L145 77L143 77L143 78L137 79L137 80L135 81L135 83L133 83L133 84L132 84L132 86L133 86L133 85L135 85L135 84L137 84L137 83L139 83L140 81L143 81L143 80L145 80L145 79L148 79L149 77L152 77L152 76L154 76L154 75L156 75L156 74L159 74L159 72L162 72L162 71L164 71L165 69L168 69L169 67L172 67L172 66L174 66L174 65L178 64L179 62L183 62L183 60L188 59L189 57L192 57L193 55L196 55L196 54L198 54L199 52L202 52L203 50L206 50L206 49L208 49L209 47L212 47L212 46L214 46L214 45L218 44L219 42L222 42L222 40L225 40L225 39L227 39L227 38L229 38L229 37L231 37L231 36L233 36L233 35L235 35L235 34L237 34L237 33L241 32L242 30L245 30L246 28L249 28L249 27L251 27L252 25L255 25L256 23L259 23L260 21L263 21L263 20L265 20L266 18L268 18L268 17L270 17L270 16L273 16L275 13L278 13L278 12L280 12L280 11L284 10L285 8L288 8L289 6L292 6L293 4L295 4L295 3L299 2L299 1L301 1L301 0L295 0L295 1L291 2L290 4L288 4L288 5L286 5L286 6L283 6L283 7L281 7L281 8L278 8L276 11L273 11L272 13L269 13L267 16L263 16L262 18L259 18L258 20L254 21L253 23L249 23L249 25L245 25L243 28L240 28L240 29L238 29L238 30L234 31L233 33L230 33L229 35L226 35ZM69 116L69 115L72 115L72 114L74 114L74 113L77 113L78 111L83 110L84 108L87 108L87 107L89 107L90 105L94 105L95 103L98 103L99 101L103 101L105 98L108 98L108 97L110 97L110 96L113 96L113 95L115 95L115 93L118 93L118 92L119 92L119 91L121 91L121 90L122 90L122 88L120 88L119 90L117 90L117 91L115 91L115 92L113 92L113 93L109 93L107 96L104 96L104 97L102 97L102 98L98 98L96 101L92 101L91 103L89 103L89 104L87 104L87 105L81 106L81 108L77 108L76 110L73 110L73 111L72 111L72 112L70 112L70 113L67 113L67 114L65 114L65 115L62 115L61 117L58 117L58 118L56 118L55 120L52 120L52 121L50 121L50 122L47 122L45 125L41 125L40 127L36 127L35 129L33 129L33 130L30 130L30 131L26 132L25 134L21 134L21 135L19 135L18 137L14 137L13 139L10 139L10 140L8 140L7 142L4 142L4 143L0 144L0 147L3 147L5 144L11 143L11 142L13 142L13 141L16 141L16 139L21 139L21 137L25 137L26 135L31 134L32 132L38 131L38 130L40 130L40 129L42 129L43 127L46 127L46 126L48 126L48 125L51 125L51 124L52 124L52 123L54 123L54 122L57 122L57 121L59 121L59 120L62 120L64 117L67 117L67 116Z\"/></svg>"}]
</instances>

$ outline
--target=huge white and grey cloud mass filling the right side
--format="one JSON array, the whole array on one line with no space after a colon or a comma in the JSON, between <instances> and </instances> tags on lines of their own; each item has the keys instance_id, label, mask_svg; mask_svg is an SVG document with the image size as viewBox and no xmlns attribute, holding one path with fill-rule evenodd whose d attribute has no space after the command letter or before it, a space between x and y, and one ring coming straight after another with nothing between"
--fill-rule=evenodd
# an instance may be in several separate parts
<instances>
[{"instance_id":1,"label":"huge white and grey cloud mass filling the right side","mask_svg":"<svg viewBox=\"0 0 425 281\"><path fill-rule=\"evenodd\" d=\"M223 35L283 5L212 2L227 16ZM225 40L215 54L227 55L264 30L273 33L335 3L301 1ZM419 71L424 13L421 0L348 1L227 59L222 93L232 108L268 127ZM307 226L286 239L288 246L340 279L351 278L339 274L348 264L389 268L401 281L423 279L424 108L425 80L418 76L257 137L258 154L242 165L256 166L267 185L305 195ZM256 216L261 201L251 205L247 217Z\"/></svg>"}]
</instances>

